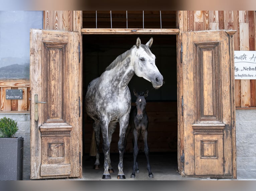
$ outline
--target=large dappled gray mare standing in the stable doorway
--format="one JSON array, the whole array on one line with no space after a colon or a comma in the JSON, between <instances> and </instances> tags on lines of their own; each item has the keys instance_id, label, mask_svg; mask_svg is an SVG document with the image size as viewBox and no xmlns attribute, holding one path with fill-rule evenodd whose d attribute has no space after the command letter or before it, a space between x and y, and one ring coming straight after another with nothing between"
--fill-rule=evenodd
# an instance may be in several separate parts
<instances>
[{"instance_id":1,"label":"large dappled gray mare standing in the stable doorway","mask_svg":"<svg viewBox=\"0 0 256 191\"><path fill-rule=\"evenodd\" d=\"M96 139L96 162L99 163L100 129L103 137L104 173L103 179L110 179L110 143L112 133L119 122L119 164L118 179L125 179L123 173L124 138L131 110L131 94L128 83L136 74L152 83L155 89L163 84L163 76L155 65L155 55L150 51L151 38L146 45L139 38L130 50L119 55L102 73L88 85L85 104L87 114L94 120L93 129Z\"/></svg>"}]
</instances>

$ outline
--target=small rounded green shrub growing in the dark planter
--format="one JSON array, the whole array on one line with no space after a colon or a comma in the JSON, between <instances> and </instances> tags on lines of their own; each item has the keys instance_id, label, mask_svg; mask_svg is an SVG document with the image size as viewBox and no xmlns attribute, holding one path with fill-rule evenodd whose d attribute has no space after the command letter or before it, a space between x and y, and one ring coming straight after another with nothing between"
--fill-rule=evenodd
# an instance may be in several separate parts
<instances>
[{"instance_id":1,"label":"small rounded green shrub growing in the dark planter","mask_svg":"<svg viewBox=\"0 0 256 191\"><path fill-rule=\"evenodd\" d=\"M18 131L17 122L11 118L3 117L0 119L0 136L13 137Z\"/></svg>"}]
</instances>

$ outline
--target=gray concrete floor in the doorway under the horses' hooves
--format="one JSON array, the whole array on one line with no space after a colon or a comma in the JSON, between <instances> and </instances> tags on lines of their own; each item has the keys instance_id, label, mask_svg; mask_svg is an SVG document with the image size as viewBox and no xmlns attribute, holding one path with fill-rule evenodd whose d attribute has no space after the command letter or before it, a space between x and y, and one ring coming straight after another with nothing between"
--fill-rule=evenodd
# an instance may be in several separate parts
<instances>
[{"instance_id":1,"label":"gray concrete floor in the doorway under the horses' hooves","mask_svg":"<svg viewBox=\"0 0 256 191\"><path fill-rule=\"evenodd\" d=\"M108 180L119 180L117 179L118 174L118 162L119 162L119 154L113 153L111 156L111 164L114 168L114 173L111 173L111 179ZM79 180L103 180L102 174L104 172L103 168L103 155L101 155L100 161L101 166L100 169L93 169L93 164L95 162L94 157L89 157L87 154L84 155L83 161L83 178ZM123 164L124 169L123 172L125 174L126 179L123 180L200 180L199 178L185 178L181 177L178 173L177 166L177 155L170 153L150 153L150 165L151 170L154 175L153 178L148 177L148 171L146 166L146 156L144 153L138 154L138 165L140 172L136 173L135 178L130 178L132 173L132 165L133 165L133 154L125 153ZM120 180L122 181L122 180Z\"/></svg>"}]
</instances>

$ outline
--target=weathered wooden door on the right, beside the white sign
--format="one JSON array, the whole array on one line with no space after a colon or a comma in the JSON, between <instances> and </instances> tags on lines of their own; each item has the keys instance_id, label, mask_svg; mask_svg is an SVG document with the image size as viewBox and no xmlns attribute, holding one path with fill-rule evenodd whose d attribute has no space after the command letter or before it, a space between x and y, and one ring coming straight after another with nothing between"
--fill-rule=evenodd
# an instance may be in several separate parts
<instances>
[{"instance_id":1,"label":"weathered wooden door on the right, beside the white sign","mask_svg":"<svg viewBox=\"0 0 256 191\"><path fill-rule=\"evenodd\" d=\"M236 174L234 33L182 33L183 176Z\"/></svg>"}]
</instances>

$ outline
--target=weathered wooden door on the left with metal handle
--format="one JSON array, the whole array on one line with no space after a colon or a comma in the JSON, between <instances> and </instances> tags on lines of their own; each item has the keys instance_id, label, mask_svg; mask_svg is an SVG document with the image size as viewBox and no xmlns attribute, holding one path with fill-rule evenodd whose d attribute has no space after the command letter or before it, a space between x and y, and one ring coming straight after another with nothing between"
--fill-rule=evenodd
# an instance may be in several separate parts
<instances>
[{"instance_id":1,"label":"weathered wooden door on the left with metal handle","mask_svg":"<svg viewBox=\"0 0 256 191\"><path fill-rule=\"evenodd\" d=\"M30 30L31 179L82 176L78 44L77 32Z\"/></svg>"}]
</instances>

